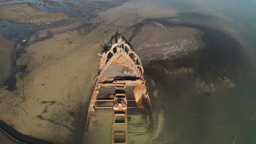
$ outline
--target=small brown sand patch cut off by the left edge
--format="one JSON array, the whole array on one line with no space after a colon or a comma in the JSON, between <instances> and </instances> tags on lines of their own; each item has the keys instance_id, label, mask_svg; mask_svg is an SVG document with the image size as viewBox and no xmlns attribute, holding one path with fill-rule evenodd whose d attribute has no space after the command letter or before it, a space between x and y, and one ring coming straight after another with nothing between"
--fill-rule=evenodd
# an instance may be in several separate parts
<instances>
[{"instance_id":1,"label":"small brown sand patch cut off by the left edge","mask_svg":"<svg viewBox=\"0 0 256 144\"><path fill-rule=\"evenodd\" d=\"M13 69L13 51L17 40L8 40L0 33L0 85L8 79Z\"/></svg>"}]
</instances>

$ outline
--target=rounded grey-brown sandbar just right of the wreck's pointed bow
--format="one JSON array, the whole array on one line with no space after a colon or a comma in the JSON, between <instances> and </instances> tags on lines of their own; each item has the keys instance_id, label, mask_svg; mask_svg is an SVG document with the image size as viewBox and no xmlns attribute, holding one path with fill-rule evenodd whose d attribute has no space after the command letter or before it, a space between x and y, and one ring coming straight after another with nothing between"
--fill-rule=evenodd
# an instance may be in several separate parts
<instances>
[{"instance_id":1,"label":"rounded grey-brown sandbar just right of the wreck's pointed bow","mask_svg":"<svg viewBox=\"0 0 256 144\"><path fill-rule=\"evenodd\" d=\"M143 64L153 60L172 59L202 49L202 31L189 27L143 26L131 40L131 45Z\"/></svg>"}]
</instances>

